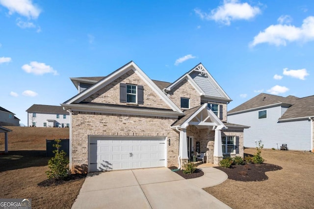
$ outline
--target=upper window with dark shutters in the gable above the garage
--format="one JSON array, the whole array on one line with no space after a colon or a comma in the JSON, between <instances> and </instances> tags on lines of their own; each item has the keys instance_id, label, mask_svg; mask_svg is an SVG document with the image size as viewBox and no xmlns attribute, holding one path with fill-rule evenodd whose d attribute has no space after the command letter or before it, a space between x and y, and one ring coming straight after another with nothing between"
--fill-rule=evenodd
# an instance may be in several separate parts
<instances>
[{"instance_id":1,"label":"upper window with dark shutters in the gable above the garage","mask_svg":"<svg viewBox=\"0 0 314 209\"><path fill-rule=\"evenodd\" d=\"M140 85L120 83L120 102L144 104L144 87Z\"/></svg>"}]
</instances>

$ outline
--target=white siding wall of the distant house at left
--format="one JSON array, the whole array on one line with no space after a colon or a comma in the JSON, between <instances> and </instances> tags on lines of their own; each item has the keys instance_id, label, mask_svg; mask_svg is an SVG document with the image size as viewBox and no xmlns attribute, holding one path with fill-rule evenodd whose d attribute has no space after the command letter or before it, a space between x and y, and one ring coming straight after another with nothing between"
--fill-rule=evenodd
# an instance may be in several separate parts
<instances>
[{"instance_id":1,"label":"white siding wall of the distant house at left","mask_svg":"<svg viewBox=\"0 0 314 209\"><path fill-rule=\"evenodd\" d=\"M36 122L36 127L44 127L44 123L47 123L47 127L50 124L48 120L55 120L54 124L57 122L58 124L63 123L66 127L67 123L70 123L70 115L66 115L66 118L63 118L63 114L59 114L59 118L57 118L57 114L51 113L36 113L36 117L32 118L33 113L28 113L28 126L32 125L32 122ZM32 121L33 120L33 121Z\"/></svg>"}]
</instances>

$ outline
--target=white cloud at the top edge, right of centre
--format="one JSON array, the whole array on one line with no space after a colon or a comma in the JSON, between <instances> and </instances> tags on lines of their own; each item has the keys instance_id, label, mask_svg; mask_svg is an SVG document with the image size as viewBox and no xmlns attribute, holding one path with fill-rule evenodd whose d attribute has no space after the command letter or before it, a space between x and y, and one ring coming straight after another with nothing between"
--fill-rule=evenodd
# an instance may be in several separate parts
<instances>
[{"instance_id":1,"label":"white cloud at the top edge, right of centre","mask_svg":"<svg viewBox=\"0 0 314 209\"><path fill-rule=\"evenodd\" d=\"M210 11L210 14L202 12L200 9L194 9L202 20L214 20L226 25L230 25L235 20L250 20L261 13L257 6L251 6L248 3L239 3L238 0L224 0L223 5Z\"/></svg>"}]
</instances>

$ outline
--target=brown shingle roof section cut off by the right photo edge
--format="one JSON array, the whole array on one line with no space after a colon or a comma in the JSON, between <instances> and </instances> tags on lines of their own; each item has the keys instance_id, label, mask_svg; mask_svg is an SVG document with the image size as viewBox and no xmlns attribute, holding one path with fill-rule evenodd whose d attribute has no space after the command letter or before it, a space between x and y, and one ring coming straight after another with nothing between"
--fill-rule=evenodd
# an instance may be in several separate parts
<instances>
[{"instance_id":1,"label":"brown shingle roof section cut off by the right photo edge","mask_svg":"<svg viewBox=\"0 0 314 209\"><path fill-rule=\"evenodd\" d=\"M314 116L314 95L296 99L279 119Z\"/></svg>"}]
</instances>

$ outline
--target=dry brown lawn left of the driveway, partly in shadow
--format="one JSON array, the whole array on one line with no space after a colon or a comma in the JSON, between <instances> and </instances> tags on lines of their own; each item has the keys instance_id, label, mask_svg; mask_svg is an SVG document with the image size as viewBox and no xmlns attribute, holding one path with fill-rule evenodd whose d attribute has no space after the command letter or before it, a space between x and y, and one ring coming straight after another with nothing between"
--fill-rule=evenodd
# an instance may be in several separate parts
<instances>
[{"instance_id":1,"label":"dry brown lawn left of the driveway, partly in shadow","mask_svg":"<svg viewBox=\"0 0 314 209\"><path fill-rule=\"evenodd\" d=\"M68 128L6 127L9 153L0 155L0 198L31 198L33 209L70 209L84 179L58 186L37 186L47 179L46 139L69 138ZM1 136L3 135L3 136ZM0 150L4 134L0 133Z\"/></svg>"}]
</instances>

